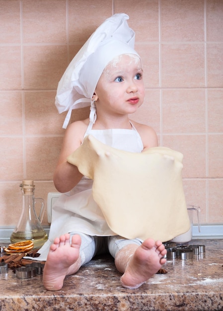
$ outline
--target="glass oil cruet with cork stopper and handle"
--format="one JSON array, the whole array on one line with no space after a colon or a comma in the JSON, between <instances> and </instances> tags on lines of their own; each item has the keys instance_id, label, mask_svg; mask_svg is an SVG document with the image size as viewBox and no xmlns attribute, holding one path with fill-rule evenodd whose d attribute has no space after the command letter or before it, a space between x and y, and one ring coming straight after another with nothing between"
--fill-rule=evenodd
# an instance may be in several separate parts
<instances>
[{"instance_id":1,"label":"glass oil cruet with cork stopper and handle","mask_svg":"<svg viewBox=\"0 0 223 311\"><path fill-rule=\"evenodd\" d=\"M23 180L20 184L22 191L22 211L17 226L10 236L11 243L32 240L34 248L40 248L48 239L41 223L45 211L45 203L41 198L34 197L35 185L33 180ZM35 203L41 203L39 217L36 215Z\"/></svg>"}]
</instances>

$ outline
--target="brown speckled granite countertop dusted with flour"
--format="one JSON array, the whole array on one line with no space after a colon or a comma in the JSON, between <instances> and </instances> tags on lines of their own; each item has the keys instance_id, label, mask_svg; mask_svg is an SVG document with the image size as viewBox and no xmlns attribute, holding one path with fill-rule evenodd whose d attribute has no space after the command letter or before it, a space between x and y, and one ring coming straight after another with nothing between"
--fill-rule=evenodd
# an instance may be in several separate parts
<instances>
[{"instance_id":1,"label":"brown speckled granite countertop dusted with flour","mask_svg":"<svg viewBox=\"0 0 223 311\"><path fill-rule=\"evenodd\" d=\"M168 260L166 274L155 274L139 289L120 285L109 255L95 257L65 279L57 292L45 290L42 275L20 280L0 274L0 310L44 311L212 311L223 310L223 239L193 240L206 252L193 259Z\"/></svg>"}]
</instances>

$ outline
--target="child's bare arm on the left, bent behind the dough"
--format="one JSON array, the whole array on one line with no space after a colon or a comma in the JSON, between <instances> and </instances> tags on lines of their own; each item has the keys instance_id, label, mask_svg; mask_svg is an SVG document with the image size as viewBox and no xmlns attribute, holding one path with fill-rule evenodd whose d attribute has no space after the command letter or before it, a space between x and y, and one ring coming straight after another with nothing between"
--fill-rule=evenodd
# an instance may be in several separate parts
<instances>
[{"instance_id":1,"label":"child's bare arm on the left, bent behind the dough","mask_svg":"<svg viewBox=\"0 0 223 311\"><path fill-rule=\"evenodd\" d=\"M66 130L61 153L54 172L54 184L59 192L70 191L83 176L75 165L67 161L67 157L81 145L86 127L85 120L77 121L72 123Z\"/></svg>"}]
</instances>

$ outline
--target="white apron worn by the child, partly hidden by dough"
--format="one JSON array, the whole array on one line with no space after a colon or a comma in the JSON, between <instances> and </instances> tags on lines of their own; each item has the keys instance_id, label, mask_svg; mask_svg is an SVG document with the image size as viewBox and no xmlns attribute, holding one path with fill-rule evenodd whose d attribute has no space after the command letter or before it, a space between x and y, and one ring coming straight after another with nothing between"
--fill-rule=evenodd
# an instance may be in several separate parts
<instances>
[{"instance_id":1,"label":"white apron worn by the child, partly hidden by dough","mask_svg":"<svg viewBox=\"0 0 223 311\"><path fill-rule=\"evenodd\" d=\"M142 139L133 125L131 130L92 130L92 123L89 123L84 137L87 135L92 135L100 142L119 150L141 153L144 148ZM62 194L55 202L49 239L38 251L41 255L35 260L46 260L54 239L65 233L75 231L97 236L116 235L108 227L100 208L93 200L92 183L93 180L83 176L71 191Z\"/></svg>"}]
</instances>

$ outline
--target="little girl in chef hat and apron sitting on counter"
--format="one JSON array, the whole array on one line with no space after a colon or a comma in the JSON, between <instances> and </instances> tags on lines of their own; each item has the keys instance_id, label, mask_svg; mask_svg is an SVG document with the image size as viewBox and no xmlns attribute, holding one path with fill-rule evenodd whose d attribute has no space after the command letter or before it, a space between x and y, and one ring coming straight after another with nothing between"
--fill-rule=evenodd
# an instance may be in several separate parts
<instances>
[{"instance_id":1,"label":"little girl in chef hat and apron sitting on counter","mask_svg":"<svg viewBox=\"0 0 223 311\"><path fill-rule=\"evenodd\" d=\"M98 27L59 82L56 105L59 112L69 110L64 127L72 109L90 103L91 110L88 119L68 126L54 174L55 186L64 194L53 207L49 240L39 251L39 258L47 259L43 282L48 290L61 289L67 275L106 251L115 258L125 288L138 288L166 261L161 241L131 240L111 231L92 198L92 180L67 161L89 134L128 152L157 147L153 129L129 119L143 104L145 88L127 19L115 14Z\"/></svg>"}]
</instances>

